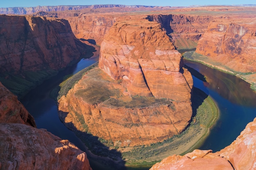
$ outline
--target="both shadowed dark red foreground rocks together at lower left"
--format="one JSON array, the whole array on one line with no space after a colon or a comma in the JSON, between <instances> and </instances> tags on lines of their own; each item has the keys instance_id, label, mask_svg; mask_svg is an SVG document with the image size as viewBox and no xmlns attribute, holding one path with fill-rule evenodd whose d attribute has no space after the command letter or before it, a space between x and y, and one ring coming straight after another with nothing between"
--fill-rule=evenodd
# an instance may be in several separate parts
<instances>
[{"instance_id":1,"label":"both shadowed dark red foreground rocks together at lower left","mask_svg":"<svg viewBox=\"0 0 256 170\"><path fill-rule=\"evenodd\" d=\"M85 152L35 127L17 96L0 83L0 169L91 170Z\"/></svg>"}]
</instances>

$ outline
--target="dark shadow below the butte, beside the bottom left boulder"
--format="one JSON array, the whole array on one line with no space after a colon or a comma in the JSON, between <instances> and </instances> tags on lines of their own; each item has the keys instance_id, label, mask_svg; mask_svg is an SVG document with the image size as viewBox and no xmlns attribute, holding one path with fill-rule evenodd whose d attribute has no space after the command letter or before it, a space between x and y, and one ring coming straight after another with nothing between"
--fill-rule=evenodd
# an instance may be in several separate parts
<instances>
[{"instance_id":1,"label":"dark shadow below the butte, beside the bottom left boulder","mask_svg":"<svg viewBox=\"0 0 256 170\"><path fill-rule=\"evenodd\" d=\"M59 111L60 112L60 111ZM62 119L65 120L67 112L61 112ZM99 137L92 134L81 132L76 129L72 122L65 123L67 128L74 131L88 149L81 149L86 152L93 170L127 170L125 161L122 159L121 152L111 149L99 141ZM110 143L110 145L113 143Z\"/></svg>"}]
</instances>

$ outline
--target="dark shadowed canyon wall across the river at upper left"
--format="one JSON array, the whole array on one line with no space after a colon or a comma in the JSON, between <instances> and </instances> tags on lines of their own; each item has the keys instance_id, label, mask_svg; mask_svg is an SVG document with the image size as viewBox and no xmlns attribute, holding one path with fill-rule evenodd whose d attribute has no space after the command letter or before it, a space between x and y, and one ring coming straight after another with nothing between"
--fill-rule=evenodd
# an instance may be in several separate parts
<instances>
[{"instance_id":1,"label":"dark shadowed canyon wall across the river at upper left","mask_svg":"<svg viewBox=\"0 0 256 170\"><path fill-rule=\"evenodd\" d=\"M93 50L67 20L0 15L0 22L0 81L18 96Z\"/></svg>"}]
</instances>

